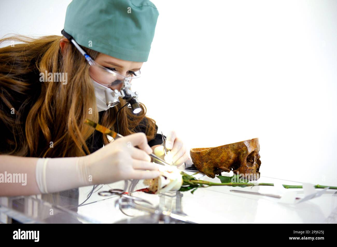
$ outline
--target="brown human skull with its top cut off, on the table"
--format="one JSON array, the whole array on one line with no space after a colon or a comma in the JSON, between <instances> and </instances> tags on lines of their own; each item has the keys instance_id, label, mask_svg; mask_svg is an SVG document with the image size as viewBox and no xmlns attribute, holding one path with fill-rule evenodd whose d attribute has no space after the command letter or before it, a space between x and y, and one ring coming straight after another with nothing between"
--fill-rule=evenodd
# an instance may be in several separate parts
<instances>
[{"instance_id":1,"label":"brown human skull with its top cut off, on the table","mask_svg":"<svg viewBox=\"0 0 337 247\"><path fill-rule=\"evenodd\" d=\"M190 155L195 167L214 178L221 172L244 174L248 180L257 180L260 172L260 145L258 138L213 148L194 148Z\"/></svg>"}]
</instances>

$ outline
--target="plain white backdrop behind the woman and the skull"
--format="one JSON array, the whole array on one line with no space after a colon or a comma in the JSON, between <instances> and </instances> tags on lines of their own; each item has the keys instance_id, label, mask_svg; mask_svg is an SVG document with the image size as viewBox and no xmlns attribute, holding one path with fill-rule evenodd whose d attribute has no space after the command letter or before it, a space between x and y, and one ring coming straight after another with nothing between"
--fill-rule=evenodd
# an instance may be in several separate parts
<instances>
[{"instance_id":1,"label":"plain white backdrop behind the woman and the skull","mask_svg":"<svg viewBox=\"0 0 337 247\"><path fill-rule=\"evenodd\" d=\"M69 2L1 1L0 35L61 35ZM152 2L133 89L159 131L188 150L258 137L261 175L337 186L337 1Z\"/></svg>"}]
</instances>

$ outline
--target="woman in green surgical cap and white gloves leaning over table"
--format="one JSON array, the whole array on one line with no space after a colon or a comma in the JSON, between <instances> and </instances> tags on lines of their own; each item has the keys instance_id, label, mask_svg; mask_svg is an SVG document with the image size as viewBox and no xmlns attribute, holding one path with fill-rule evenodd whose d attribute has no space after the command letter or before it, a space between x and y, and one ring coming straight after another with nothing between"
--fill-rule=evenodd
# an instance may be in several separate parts
<instances>
[{"instance_id":1,"label":"woman in green surgical cap and white gloves leaning over table","mask_svg":"<svg viewBox=\"0 0 337 247\"><path fill-rule=\"evenodd\" d=\"M1 40L22 43L0 49L0 173L27 174L27 184L0 183L0 196L52 193L159 175L148 155L161 143L155 121L145 116L141 103L139 114L123 107L126 101L121 97L117 107L102 105L102 89L120 91L123 83L104 84L104 72L99 71L105 68L121 78L139 75L158 11L147 0L92 3L73 0L67 8L64 34L79 47L63 36ZM60 73L66 80L55 81ZM105 135L84 124L87 118L125 138L109 143ZM166 147L176 165L187 160L174 131L168 134Z\"/></svg>"}]
</instances>

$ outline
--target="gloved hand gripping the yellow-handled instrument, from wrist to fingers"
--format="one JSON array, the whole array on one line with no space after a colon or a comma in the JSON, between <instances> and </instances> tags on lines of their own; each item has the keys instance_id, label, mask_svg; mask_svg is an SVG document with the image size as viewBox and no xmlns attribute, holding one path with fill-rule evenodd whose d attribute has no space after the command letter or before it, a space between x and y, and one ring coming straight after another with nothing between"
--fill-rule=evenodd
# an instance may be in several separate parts
<instances>
[{"instance_id":1,"label":"gloved hand gripping the yellow-handled instrument, from wrist to fingers","mask_svg":"<svg viewBox=\"0 0 337 247\"><path fill-rule=\"evenodd\" d=\"M118 138L83 158L93 184L101 184L158 177L158 165L151 162L150 153L146 135L139 132Z\"/></svg>"}]
</instances>

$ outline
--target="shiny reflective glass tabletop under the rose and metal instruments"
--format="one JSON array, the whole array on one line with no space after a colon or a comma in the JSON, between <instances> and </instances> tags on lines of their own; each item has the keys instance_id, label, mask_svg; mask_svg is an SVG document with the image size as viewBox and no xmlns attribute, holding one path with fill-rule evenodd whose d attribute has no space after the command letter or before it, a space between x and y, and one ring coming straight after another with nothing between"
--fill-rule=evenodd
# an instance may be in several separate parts
<instances>
[{"instance_id":1,"label":"shiny reflective glass tabletop under the rose and metal instruments","mask_svg":"<svg viewBox=\"0 0 337 247\"><path fill-rule=\"evenodd\" d=\"M203 180L218 182L217 178L203 177ZM259 182L300 185L263 176ZM128 200L119 201L119 195L98 195L100 191L124 189L124 181L98 186L88 198L92 188L81 187L53 195L0 198L1 222L11 222L11 218L23 223L182 223L184 220L196 223L337 222L337 194L334 190L297 204L281 204L279 198L230 192L234 188L230 186L199 188L194 194L187 191L154 195L139 191L131 196L150 204L135 201L131 206ZM141 180L133 191L143 188ZM235 189L277 194L272 186ZM302 196L301 189L291 190ZM118 207L121 205L122 211ZM163 217L165 213L172 213L176 220L173 220L174 217ZM180 216L183 221L179 220Z\"/></svg>"}]
</instances>

